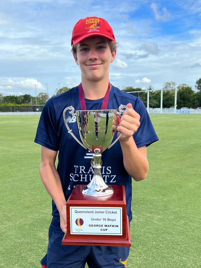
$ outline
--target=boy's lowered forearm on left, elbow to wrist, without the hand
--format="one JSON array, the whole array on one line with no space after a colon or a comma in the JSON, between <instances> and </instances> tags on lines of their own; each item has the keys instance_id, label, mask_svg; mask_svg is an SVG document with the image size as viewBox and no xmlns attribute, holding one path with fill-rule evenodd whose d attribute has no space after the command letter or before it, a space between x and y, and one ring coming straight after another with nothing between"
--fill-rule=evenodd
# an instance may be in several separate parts
<instances>
[{"instance_id":1,"label":"boy's lowered forearm on left, elbow to wrist, without the hand","mask_svg":"<svg viewBox=\"0 0 201 268\"><path fill-rule=\"evenodd\" d=\"M54 200L58 211L66 205L64 192L61 185L61 180L55 166L49 164L40 164L40 177L47 192Z\"/></svg>"}]
</instances>

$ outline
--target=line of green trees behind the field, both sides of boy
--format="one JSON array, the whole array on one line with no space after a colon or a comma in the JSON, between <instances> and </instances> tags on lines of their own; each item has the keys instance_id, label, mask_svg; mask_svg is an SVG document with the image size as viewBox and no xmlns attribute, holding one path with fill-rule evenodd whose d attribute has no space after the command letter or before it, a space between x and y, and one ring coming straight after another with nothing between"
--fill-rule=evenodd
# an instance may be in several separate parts
<instances>
[{"instance_id":1,"label":"line of green trees behind the field, both sides of boy","mask_svg":"<svg viewBox=\"0 0 201 268\"><path fill-rule=\"evenodd\" d=\"M197 108L201 107L201 78L196 80L195 90L187 84L180 84L177 86L177 108L189 107ZM62 87L55 91L55 95L61 94L65 91L68 91L70 88ZM165 82L163 85L163 108L170 108L174 106L174 94L176 89L176 83ZM143 101L144 105L147 107L147 92L142 88L134 88L132 86L123 87L123 91L142 91L139 92L139 98ZM161 90L154 90L154 88L149 85L147 87L149 91L149 107L157 108L161 106ZM0 105L1 106L35 106L37 99L37 105L44 105L49 99L49 95L44 92L40 92L36 97L31 96L30 94L25 95L8 95L3 96L0 93Z\"/></svg>"}]
</instances>

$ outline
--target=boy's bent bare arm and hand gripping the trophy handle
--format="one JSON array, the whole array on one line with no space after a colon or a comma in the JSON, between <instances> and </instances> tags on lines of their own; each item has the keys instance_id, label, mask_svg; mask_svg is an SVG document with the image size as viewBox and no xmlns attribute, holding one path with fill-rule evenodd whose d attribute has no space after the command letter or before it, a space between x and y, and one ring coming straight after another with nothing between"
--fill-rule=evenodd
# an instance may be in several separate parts
<instances>
[{"instance_id":1,"label":"boy's bent bare arm and hand gripping the trophy handle","mask_svg":"<svg viewBox=\"0 0 201 268\"><path fill-rule=\"evenodd\" d=\"M124 167L134 180L140 181L146 178L149 168L146 158L146 146L137 148L135 144L133 134L140 125L140 115L133 110L131 103L128 103L127 106L129 109L124 111L120 124L117 126L117 131L122 133L119 141L123 153ZM115 121L116 118L114 116Z\"/></svg>"}]
</instances>

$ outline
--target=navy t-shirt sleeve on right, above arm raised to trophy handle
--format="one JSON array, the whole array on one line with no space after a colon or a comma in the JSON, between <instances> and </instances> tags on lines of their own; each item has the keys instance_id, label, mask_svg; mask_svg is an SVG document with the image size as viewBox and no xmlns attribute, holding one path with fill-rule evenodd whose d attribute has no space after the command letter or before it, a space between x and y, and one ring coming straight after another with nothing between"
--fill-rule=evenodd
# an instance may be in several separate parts
<instances>
[{"instance_id":1,"label":"navy t-shirt sleeve on right, above arm raised to trophy handle","mask_svg":"<svg viewBox=\"0 0 201 268\"><path fill-rule=\"evenodd\" d=\"M137 98L133 109L140 115L140 126L133 135L136 146L138 148L145 145L149 146L158 140L158 136L156 135L147 109L139 98Z\"/></svg>"}]
</instances>

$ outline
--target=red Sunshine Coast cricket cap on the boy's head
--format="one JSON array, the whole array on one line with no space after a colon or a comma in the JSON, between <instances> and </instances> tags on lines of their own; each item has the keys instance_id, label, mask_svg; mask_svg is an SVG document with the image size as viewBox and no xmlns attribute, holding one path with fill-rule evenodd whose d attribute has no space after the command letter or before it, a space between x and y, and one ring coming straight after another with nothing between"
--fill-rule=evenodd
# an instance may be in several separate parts
<instances>
[{"instance_id":1,"label":"red Sunshine Coast cricket cap on the boy's head","mask_svg":"<svg viewBox=\"0 0 201 268\"><path fill-rule=\"evenodd\" d=\"M116 42L112 27L103 18L87 17L79 20L72 32L71 46L90 36L104 36Z\"/></svg>"}]
</instances>

